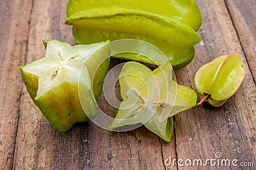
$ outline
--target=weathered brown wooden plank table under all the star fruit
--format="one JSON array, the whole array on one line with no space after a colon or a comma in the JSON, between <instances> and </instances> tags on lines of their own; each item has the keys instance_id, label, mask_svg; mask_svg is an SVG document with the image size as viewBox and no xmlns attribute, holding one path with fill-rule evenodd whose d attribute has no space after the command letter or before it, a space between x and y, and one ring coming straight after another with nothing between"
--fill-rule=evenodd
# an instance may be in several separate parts
<instances>
[{"instance_id":1,"label":"weathered brown wooden plank table under all the star fruit","mask_svg":"<svg viewBox=\"0 0 256 170\"><path fill-rule=\"evenodd\" d=\"M241 56L246 76L224 106L204 105L176 115L172 141L166 143L145 127L109 132L84 122L65 133L54 130L29 97L19 66L44 56L43 39L76 44L71 27L64 24L67 0L0 1L0 169L256 169L256 1L197 3L202 41L195 59L175 70L177 81L195 90L196 70L231 52ZM112 60L111 66L117 62ZM116 113L103 95L98 103ZM217 152L221 159L254 167L164 166L169 157L216 159Z\"/></svg>"}]
</instances>

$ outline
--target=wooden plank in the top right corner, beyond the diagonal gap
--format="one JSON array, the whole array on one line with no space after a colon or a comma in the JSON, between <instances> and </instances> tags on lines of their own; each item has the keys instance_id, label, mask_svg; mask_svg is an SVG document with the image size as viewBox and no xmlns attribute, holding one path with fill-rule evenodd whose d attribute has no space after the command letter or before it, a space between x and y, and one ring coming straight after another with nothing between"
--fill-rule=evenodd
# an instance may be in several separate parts
<instances>
[{"instance_id":1,"label":"wooden plank in the top right corner, beyond the diagonal gap","mask_svg":"<svg viewBox=\"0 0 256 170\"><path fill-rule=\"evenodd\" d=\"M234 26L237 32L237 35L239 36L239 40L241 43L241 46L243 48L244 55L246 56L246 60L248 62L248 66L250 68L250 72L253 76L253 81L255 83L256 78L256 1L227 1L227 7L228 11L230 13L230 16L232 18L232 21L234 22ZM252 85L253 87L253 85ZM255 94L255 90L250 92L250 89L248 90L248 93ZM254 103L256 103L256 97L248 97L247 100L252 100ZM250 107L250 105L247 105ZM254 134L251 136L250 139L250 145L253 148L254 157L256 157L256 143L255 143L255 124L252 125L250 119L256 120L255 118L255 110L256 107L252 106L253 115L247 115L247 117L244 117L244 124L248 124L248 129L246 129L246 132L250 132L250 134Z\"/></svg>"}]
</instances>

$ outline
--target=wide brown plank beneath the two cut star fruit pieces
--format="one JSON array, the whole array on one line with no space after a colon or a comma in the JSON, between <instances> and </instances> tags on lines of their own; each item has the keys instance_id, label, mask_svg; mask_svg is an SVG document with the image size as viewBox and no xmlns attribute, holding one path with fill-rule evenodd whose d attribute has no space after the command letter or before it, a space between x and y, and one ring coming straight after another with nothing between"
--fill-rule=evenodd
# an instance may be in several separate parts
<instances>
[{"instance_id":1,"label":"wide brown plank beneath the two cut star fruit pieces","mask_svg":"<svg viewBox=\"0 0 256 170\"><path fill-rule=\"evenodd\" d=\"M42 39L55 38L75 44L71 27L63 24L66 4L67 1L35 1L26 62L44 54ZM111 65L115 64L118 62L114 60ZM116 113L116 109L110 108L102 95L100 107L109 115ZM15 169L163 169L161 141L145 127L116 133L85 122L61 133L45 120L25 87L21 100Z\"/></svg>"}]
</instances>

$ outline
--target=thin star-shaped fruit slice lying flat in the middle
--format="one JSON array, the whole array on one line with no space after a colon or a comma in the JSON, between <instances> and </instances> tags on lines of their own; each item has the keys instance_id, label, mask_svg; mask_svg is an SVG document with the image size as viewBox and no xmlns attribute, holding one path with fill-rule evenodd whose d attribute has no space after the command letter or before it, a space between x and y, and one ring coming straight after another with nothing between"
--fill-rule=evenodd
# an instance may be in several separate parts
<instances>
[{"instance_id":1,"label":"thin star-shaped fruit slice lying flat in the middle","mask_svg":"<svg viewBox=\"0 0 256 170\"><path fill-rule=\"evenodd\" d=\"M196 105L196 93L172 80L169 62L154 71L139 62L127 62L119 82L123 101L109 129L141 123L169 142L173 115Z\"/></svg>"}]
</instances>

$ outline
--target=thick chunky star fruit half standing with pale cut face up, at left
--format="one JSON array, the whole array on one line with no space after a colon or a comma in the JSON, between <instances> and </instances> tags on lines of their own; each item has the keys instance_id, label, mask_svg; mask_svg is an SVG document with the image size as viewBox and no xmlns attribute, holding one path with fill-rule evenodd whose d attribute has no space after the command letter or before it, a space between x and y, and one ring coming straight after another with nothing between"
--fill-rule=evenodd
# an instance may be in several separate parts
<instances>
[{"instance_id":1,"label":"thick chunky star fruit half standing with pale cut face up, at left","mask_svg":"<svg viewBox=\"0 0 256 170\"><path fill-rule=\"evenodd\" d=\"M108 43L71 46L44 41L45 57L20 67L29 95L56 130L68 131L74 123L88 120L87 115L97 115L93 89L101 90L98 84L104 76L93 79L90 74L109 53ZM106 74L102 70L108 70L108 62L103 63L99 70ZM92 89L92 81L98 87Z\"/></svg>"}]
</instances>

